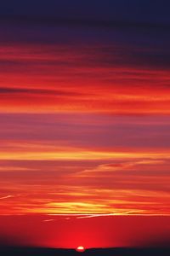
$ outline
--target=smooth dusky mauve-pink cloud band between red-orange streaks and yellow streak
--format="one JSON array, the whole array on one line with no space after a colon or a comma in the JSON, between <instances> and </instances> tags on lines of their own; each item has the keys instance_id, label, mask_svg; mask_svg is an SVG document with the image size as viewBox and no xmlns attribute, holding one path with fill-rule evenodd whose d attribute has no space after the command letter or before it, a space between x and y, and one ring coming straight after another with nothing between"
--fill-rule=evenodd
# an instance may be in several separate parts
<instances>
[{"instance_id":1,"label":"smooth dusky mauve-pink cloud band between red-orange streaks and yellow streak","mask_svg":"<svg viewBox=\"0 0 170 256\"><path fill-rule=\"evenodd\" d=\"M36 143L42 143L41 148L59 144L77 148L111 149L114 145L114 150L127 151L139 151L139 148L144 151L155 151L156 148L164 151L169 148L167 138L170 119L167 116L113 118L104 113L8 113L0 114L0 119L3 149L5 144L8 149L20 148L21 143L27 146L32 144L32 147Z\"/></svg>"}]
</instances>

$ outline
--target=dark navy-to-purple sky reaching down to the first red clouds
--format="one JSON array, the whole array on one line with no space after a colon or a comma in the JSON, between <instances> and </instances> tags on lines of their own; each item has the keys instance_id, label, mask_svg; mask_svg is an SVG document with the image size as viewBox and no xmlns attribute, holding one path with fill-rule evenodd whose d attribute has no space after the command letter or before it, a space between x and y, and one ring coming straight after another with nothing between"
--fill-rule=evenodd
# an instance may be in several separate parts
<instances>
[{"instance_id":1,"label":"dark navy-to-purple sky reaching down to the first red clouds","mask_svg":"<svg viewBox=\"0 0 170 256\"><path fill-rule=\"evenodd\" d=\"M128 65L169 68L169 10L167 0L3 0L0 44L71 44L90 56L100 45L107 65L116 47Z\"/></svg>"}]
</instances>

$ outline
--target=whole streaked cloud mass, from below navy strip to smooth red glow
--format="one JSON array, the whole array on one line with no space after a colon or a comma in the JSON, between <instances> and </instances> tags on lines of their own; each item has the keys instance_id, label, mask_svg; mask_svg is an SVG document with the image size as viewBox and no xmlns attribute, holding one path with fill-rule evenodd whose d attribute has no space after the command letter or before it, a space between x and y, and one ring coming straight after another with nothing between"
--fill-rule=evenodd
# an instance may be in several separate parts
<instances>
[{"instance_id":1,"label":"whole streaked cloud mass, from below navy strip to smooth red glow","mask_svg":"<svg viewBox=\"0 0 170 256\"><path fill-rule=\"evenodd\" d=\"M0 214L169 214L168 26L146 23L0 18Z\"/></svg>"}]
</instances>

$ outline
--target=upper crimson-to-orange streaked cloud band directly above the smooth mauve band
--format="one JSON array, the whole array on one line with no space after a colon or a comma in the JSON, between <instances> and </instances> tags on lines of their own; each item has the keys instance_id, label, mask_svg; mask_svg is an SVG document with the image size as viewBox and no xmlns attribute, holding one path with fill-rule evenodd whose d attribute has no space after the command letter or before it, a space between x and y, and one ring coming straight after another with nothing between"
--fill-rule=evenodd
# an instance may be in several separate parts
<instances>
[{"instance_id":1,"label":"upper crimson-to-orange streaked cloud band directly above the smooth mauve band","mask_svg":"<svg viewBox=\"0 0 170 256\"><path fill-rule=\"evenodd\" d=\"M169 114L166 57L167 49L117 43L3 44L0 111Z\"/></svg>"}]
</instances>

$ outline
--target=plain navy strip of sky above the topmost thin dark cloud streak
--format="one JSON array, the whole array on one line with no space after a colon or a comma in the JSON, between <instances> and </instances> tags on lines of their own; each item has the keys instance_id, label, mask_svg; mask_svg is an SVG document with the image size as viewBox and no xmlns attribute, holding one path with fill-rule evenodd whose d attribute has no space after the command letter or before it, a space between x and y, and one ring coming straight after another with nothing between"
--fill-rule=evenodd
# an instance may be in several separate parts
<instances>
[{"instance_id":1,"label":"plain navy strip of sky above the topmost thin dark cloud streak","mask_svg":"<svg viewBox=\"0 0 170 256\"><path fill-rule=\"evenodd\" d=\"M3 0L0 15L170 23L166 0Z\"/></svg>"}]
</instances>

